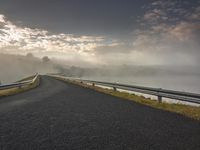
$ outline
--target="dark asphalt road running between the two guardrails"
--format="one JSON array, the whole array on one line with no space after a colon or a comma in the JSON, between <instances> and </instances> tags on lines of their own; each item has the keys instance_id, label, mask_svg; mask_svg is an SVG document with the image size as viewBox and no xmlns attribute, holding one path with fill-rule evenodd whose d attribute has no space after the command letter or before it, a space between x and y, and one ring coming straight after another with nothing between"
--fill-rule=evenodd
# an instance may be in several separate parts
<instances>
[{"instance_id":1,"label":"dark asphalt road running between the two guardrails","mask_svg":"<svg viewBox=\"0 0 200 150\"><path fill-rule=\"evenodd\" d=\"M50 77L0 98L0 150L200 150L198 121Z\"/></svg>"}]
</instances>

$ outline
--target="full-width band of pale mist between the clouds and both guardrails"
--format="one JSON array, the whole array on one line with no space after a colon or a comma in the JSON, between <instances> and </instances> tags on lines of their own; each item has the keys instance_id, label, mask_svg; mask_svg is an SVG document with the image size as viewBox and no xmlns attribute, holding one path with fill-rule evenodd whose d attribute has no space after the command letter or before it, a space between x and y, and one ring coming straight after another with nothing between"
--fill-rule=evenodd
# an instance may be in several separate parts
<instances>
[{"instance_id":1,"label":"full-width band of pale mist between the clouds and both guardrails","mask_svg":"<svg viewBox=\"0 0 200 150\"><path fill-rule=\"evenodd\" d=\"M78 60L77 60L78 61ZM27 56L0 54L0 80L10 83L39 74L62 74L69 77L119 82L179 91L200 93L199 66L167 65L104 65L75 66L68 61Z\"/></svg>"}]
</instances>

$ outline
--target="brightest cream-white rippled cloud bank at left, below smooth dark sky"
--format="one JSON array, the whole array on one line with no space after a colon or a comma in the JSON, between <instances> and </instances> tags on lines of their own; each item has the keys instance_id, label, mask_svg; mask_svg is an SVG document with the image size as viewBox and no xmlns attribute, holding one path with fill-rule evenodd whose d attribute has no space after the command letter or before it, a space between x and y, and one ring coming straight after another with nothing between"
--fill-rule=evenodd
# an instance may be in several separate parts
<instances>
[{"instance_id":1,"label":"brightest cream-white rippled cloud bank at left, below smooth dark sky","mask_svg":"<svg viewBox=\"0 0 200 150\"><path fill-rule=\"evenodd\" d=\"M92 51L102 45L104 37L53 34L42 29L20 27L0 15L0 50L10 53L37 51L69 51L79 53Z\"/></svg>"}]
</instances>

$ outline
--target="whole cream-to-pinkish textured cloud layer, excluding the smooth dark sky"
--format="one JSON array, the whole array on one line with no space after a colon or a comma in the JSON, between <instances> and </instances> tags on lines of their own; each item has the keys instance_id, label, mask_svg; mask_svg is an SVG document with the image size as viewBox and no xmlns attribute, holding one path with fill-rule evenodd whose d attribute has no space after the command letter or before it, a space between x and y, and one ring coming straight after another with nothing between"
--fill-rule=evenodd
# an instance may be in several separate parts
<instances>
[{"instance_id":1,"label":"whole cream-to-pinkish textured cloud layer, excluding the smooth dark sky","mask_svg":"<svg viewBox=\"0 0 200 150\"><path fill-rule=\"evenodd\" d=\"M21 27L0 15L0 52L32 52L37 56L51 55L79 64L200 63L200 3L155 0L142 9L143 15L138 16L135 28L125 42L121 37L54 34Z\"/></svg>"}]
</instances>

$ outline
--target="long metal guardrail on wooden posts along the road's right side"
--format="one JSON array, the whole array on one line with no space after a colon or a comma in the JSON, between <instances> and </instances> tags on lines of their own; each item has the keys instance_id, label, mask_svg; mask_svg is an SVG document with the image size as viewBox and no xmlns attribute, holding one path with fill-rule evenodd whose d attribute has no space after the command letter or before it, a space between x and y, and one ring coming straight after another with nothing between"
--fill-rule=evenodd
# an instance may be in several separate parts
<instances>
[{"instance_id":1,"label":"long metal guardrail on wooden posts along the road's right side","mask_svg":"<svg viewBox=\"0 0 200 150\"><path fill-rule=\"evenodd\" d=\"M134 86L134 85L127 85L127 84L111 83L111 82L82 80L78 78L70 78L70 77L58 76L58 75L54 75L54 76L68 79L68 80L73 80L73 81L90 83L93 86L95 86L95 84L101 85L101 86L107 86L107 87L113 88L114 90L118 88L118 89L123 89L123 90L139 92L143 94L154 95L158 97L158 101L160 103L162 102L162 97L165 97L165 98L170 98L174 100L200 104L200 94L196 94L196 93L166 90L166 89L161 89L161 88L151 88L151 87L144 87L144 86Z\"/></svg>"}]
</instances>

